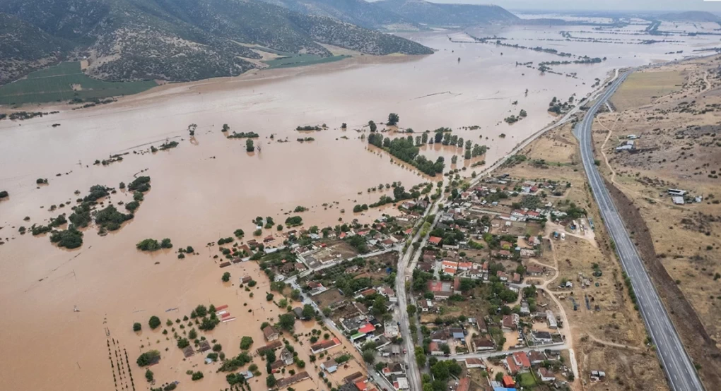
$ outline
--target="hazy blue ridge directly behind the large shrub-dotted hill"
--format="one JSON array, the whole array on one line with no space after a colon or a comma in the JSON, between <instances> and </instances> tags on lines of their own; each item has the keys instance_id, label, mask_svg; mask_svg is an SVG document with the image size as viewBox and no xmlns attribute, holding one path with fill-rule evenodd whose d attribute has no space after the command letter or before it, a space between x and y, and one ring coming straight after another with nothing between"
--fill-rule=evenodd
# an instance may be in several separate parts
<instances>
[{"instance_id":1,"label":"hazy blue ridge directly behind the large shrub-dotted hill","mask_svg":"<svg viewBox=\"0 0 721 391\"><path fill-rule=\"evenodd\" d=\"M400 15L390 12L375 3L366 0L263 0L270 4L283 6L291 11L320 17L332 17L342 22L357 24L369 29L386 26L407 25L413 27Z\"/></svg>"}]
</instances>

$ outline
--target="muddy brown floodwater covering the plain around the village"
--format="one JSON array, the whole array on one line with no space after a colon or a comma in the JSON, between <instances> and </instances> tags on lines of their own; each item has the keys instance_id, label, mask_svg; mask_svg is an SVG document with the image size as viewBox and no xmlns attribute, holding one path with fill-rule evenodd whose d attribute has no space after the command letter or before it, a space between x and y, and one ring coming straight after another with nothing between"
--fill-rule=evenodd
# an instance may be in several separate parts
<instances>
[{"instance_id":1,"label":"muddy brown floodwater covering the plain around the village","mask_svg":"<svg viewBox=\"0 0 721 391\"><path fill-rule=\"evenodd\" d=\"M698 55L692 50L710 47L717 40L672 37L667 39L681 42L642 45L636 40L648 36L636 34L644 27L630 25L609 36L617 41L594 43L565 42L557 27L469 31L477 37L507 37L511 44L607 58L596 64L552 67L561 75L516 65L563 60L548 53L470 43L463 32L411 33L404 36L438 51L424 57L361 56L309 68L168 84L105 106L72 111L60 105L43 108L58 109L59 114L0 121L0 190L10 194L0 201L4 242L0 246L0 310L4 314L0 318L0 389L125 390L117 378L113 381L107 347L113 339L128 353L136 390L148 388L144 371L135 364L138 354L147 349L162 353L161 364L154 368L156 379L162 382L178 380L179 390L227 387L224 375L214 373L217 365L206 369L202 354L182 361L182 353L172 342L147 327L151 315L164 323L182 318L198 304L227 304L238 320L223 323L211 333L227 346L226 354L239 352L240 336L252 336L254 349L264 343L260 323L277 319L281 313L277 307L271 312L268 306L272 304L264 300L267 279L252 262L227 269L234 282L244 274L256 276L257 300L221 283L222 272L213 259L217 248L208 248L206 243L231 236L236 228L244 229L248 239L256 216L271 216L282 223L287 217L284 213L296 206L309 208L298 214L306 227L336 225L339 218L368 222L381 213L394 213L390 206L367 215L351 212L355 203L371 203L389 194L368 193L369 187L400 181L408 188L441 180L421 176L392 163L386 153L367 148L360 136L368 134L363 128L368 120L385 122L389 112L396 112L399 126L416 132L451 127L459 137L487 145L483 159L490 165L554 120L547 113L554 96L565 100L575 94L580 99L593 91L596 78L605 80L614 68ZM591 27L565 30L575 30L574 36L606 37ZM462 42L451 42L449 37ZM566 76L572 73L575 77ZM525 119L513 125L503 122L521 109L528 113ZM348 124L347 130L340 129L342 122ZM186 130L191 123L198 125L193 140ZM247 153L244 139L224 137L223 124L231 131L259 133L255 145L260 148ZM327 130L302 134L294 130L298 125L322 124ZM472 125L479 128L460 129ZM500 138L502 133L505 138ZM298 143L298 137L315 140ZM158 146L166 139L180 145L148 152L151 144ZM287 143L278 143L286 139ZM125 152L129 153L122 162L93 165L96 159ZM447 168L451 156L462 152L441 145L422 148L429 158L444 156ZM458 168L463 165L461 156ZM482 166L468 168L464 174L474 169L480 171ZM89 228L84 231L83 246L73 251L56 248L45 235L19 235L20 226L47 224L50 217L70 212L69 207L50 212L51 205L74 205L90 186L117 187L143 170L143 175L151 176L152 188L135 218L115 233L100 237L96 228ZM49 184L38 187L37 178L47 178ZM74 194L76 190L81 196ZM132 194L118 191L103 202L131 199ZM26 216L29 221L23 220ZM265 230L263 236L273 234L278 235L275 228ZM136 251L135 244L145 238L171 238L174 248L193 246L199 254L177 259L173 250ZM74 312L74 306L80 311ZM132 331L136 321L143 324L141 333ZM313 325L298 328L308 332ZM307 349L301 355L307 356ZM265 365L256 362L261 368ZM185 374L188 369L203 370L205 379L191 382ZM317 375L312 365L306 369ZM316 383L317 376L298 390L318 390ZM126 379L121 384L130 383ZM265 389L265 375L251 384L253 390Z\"/></svg>"}]
</instances>

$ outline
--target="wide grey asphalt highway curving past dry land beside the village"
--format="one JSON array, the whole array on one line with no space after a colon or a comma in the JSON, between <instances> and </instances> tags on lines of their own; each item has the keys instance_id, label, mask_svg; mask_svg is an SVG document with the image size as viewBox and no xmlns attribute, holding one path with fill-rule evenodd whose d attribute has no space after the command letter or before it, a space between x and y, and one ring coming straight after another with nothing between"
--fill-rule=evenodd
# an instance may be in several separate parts
<instances>
[{"instance_id":1,"label":"wide grey asphalt highway curving past dry land beside the village","mask_svg":"<svg viewBox=\"0 0 721 391\"><path fill-rule=\"evenodd\" d=\"M616 81L588 109L583 121L576 125L574 132L580 141L583 168L585 168L588 182L601 210L603 223L606 225L606 229L609 230L614 243L616 243L616 252L621 259L624 271L631 279L642 318L647 331L653 338L653 343L656 345L656 352L671 390L704 390L699 377L696 376L696 369L688 354L686 354L686 350L684 350L681 338L678 337L678 333L676 333L671 318L669 318L665 307L663 307L663 302L661 302L658 292L656 292L653 282L648 276L636 247L629 238L623 220L619 216L619 211L616 210L609 191L606 189L603 179L601 179L601 175L598 174L593 163L593 145L591 141L593 118L596 116L598 108L609 99L627 76L628 73L623 73L619 78L616 78Z\"/></svg>"}]
</instances>

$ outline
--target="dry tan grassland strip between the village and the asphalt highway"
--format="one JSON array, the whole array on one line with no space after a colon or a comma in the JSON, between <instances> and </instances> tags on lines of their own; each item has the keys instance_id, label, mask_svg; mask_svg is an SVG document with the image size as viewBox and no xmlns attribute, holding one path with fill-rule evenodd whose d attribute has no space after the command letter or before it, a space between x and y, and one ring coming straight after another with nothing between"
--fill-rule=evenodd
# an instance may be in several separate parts
<instances>
[{"instance_id":1,"label":"dry tan grassland strip between the village and the asphalt highway","mask_svg":"<svg viewBox=\"0 0 721 391\"><path fill-rule=\"evenodd\" d=\"M571 235L566 235L565 241L553 241L559 277L549 286L552 291L562 292L557 289L561 279L574 283L574 289L564 295L565 300L561 304L570 323L566 327L570 327L573 335L580 376L586 382L585 389L667 390L655 353L644 345L644 325L628 297L621 279L621 267L611 251L596 204L586 189L585 172L580 164L578 143L572 135L571 125L548 132L524 148L521 154L527 156L528 160L504 169L504 173L508 172L516 178L570 181L572 187L562 197L549 196L548 199L554 202L562 199L575 202L584 207L589 213L588 217L596 222L596 246ZM547 164L534 164L539 159L544 159ZM539 262L554 265L554 253L549 246L544 247ZM594 263L603 271L601 277L593 277ZM592 280L590 287L580 287L580 273ZM570 292L573 292L572 296ZM591 310L585 306L586 295L589 296ZM570 297L578 305L575 311ZM591 297L593 302L590 301ZM542 302L549 302L553 307L552 300L544 299ZM601 306L600 312L594 310L596 304ZM637 349L599 345L590 336L606 343L634 346ZM609 378L606 382L590 383L588 377L592 370L605 371Z\"/></svg>"}]
</instances>

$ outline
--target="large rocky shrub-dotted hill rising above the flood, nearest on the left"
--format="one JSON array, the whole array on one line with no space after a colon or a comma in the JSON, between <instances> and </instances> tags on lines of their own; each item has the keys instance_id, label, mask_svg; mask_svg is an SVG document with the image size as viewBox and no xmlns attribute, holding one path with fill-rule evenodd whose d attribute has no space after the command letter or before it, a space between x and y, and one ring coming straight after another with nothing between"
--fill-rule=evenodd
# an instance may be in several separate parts
<instances>
[{"instance_id":1,"label":"large rocky shrub-dotted hill rising above the flood, nearest on the left","mask_svg":"<svg viewBox=\"0 0 721 391\"><path fill-rule=\"evenodd\" d=\"M73 50L88 55L87 73L107 81L236 76L261 57L242 43L321 56L331 53L319 43L373 55L433 53L401 37L253 0L0 0L0 9L25 27L12 39L28 47L12 63L0 49L0 73L12 75L4 82L37 68L37 59L73 58Z\"/></svg>"}]
</instances>

